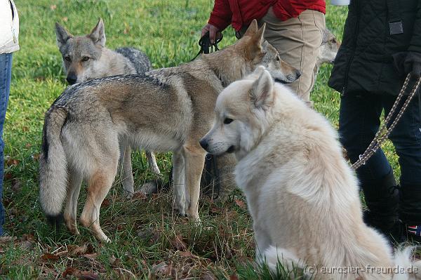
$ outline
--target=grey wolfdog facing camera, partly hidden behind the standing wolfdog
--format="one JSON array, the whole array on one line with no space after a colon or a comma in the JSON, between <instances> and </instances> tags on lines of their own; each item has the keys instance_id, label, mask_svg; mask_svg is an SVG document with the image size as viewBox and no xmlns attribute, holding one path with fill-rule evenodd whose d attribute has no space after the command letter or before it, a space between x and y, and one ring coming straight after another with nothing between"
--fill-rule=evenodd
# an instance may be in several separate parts
<instances>
[{"instance_id":1,"label":"grey wolfdog facing camera, partly hidden behind the standing wolfdog","mask_svg":"<svg viewBox=\"0 0 421 280\"><path fill-rule=\"evenodd\" d=\"M117 48L115 51L105 47L105 26L102 18L86 36L73 36L58 22L55 22L57 46L65 65L67 82L81 83L91 79L120 74L145 74L152 70L147 55L136 48ZM133 196L134 180L131 165L131 147L121 143L121 162L123 163L123 189L127 198ZM153 153L146 152L149 166L160 174Z\"/></svg>"}]
</instances>

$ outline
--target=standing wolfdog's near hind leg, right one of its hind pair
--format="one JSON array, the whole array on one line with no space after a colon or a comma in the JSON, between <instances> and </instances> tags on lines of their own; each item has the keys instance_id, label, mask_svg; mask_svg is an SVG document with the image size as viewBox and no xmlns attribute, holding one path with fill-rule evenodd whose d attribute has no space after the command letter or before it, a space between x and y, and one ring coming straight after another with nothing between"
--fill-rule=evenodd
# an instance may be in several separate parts
<instances>
[{"instance_id":1,"label":"standing wolfdog's near hind leg, right one of its hind pair","mask_svg":"<svg viewBox=\"0 0 421 280\"><path fill-rule=\"evenodd\" d=\"M81 214L81 224L93 231L93 234L100 241L110 242L111 240L102 232L100 227L100 207L117 173L117 159L110 159L109 163L102 163L102 166L94 171L88 179L88 196ZM108 165L107 165L108 164Z\"/></svg>"}]
</instances>

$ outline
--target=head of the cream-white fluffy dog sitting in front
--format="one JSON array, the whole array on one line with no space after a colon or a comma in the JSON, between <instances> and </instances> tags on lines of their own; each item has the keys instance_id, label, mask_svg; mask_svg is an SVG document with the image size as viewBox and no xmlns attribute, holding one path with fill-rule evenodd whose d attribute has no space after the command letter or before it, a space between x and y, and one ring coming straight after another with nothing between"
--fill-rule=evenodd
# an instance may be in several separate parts
<instances>
[{"instance_id":1,"label":"head of the cream-white fluffy dog sitting in front","mask_svg":"<svg viewBox=\"0 0 421 280\"><path fill-rule=\"evenodd\" d=\"M210 154L235 152L241 159L269 127L274 96L274 81L261 66L227 86L218 96L213 128L200 140L201 147Z\"/></svg>"}]
</instances>

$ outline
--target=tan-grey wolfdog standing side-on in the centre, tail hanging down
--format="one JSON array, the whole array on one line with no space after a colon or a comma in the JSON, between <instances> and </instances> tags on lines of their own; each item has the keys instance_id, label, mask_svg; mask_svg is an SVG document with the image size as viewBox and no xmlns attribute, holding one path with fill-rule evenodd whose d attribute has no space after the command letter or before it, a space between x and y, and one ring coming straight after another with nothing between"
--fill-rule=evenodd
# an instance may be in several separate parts
<instances>
[{"instance_id":1,"label":"tan-grey wolfdog standing side-on in the centre, tail hanging down","mask_svg":"<svg viewBox=\"0 0 421 280\"><path fill-rule=\"evenodd\" d=\"M264 65L275 81L300 72L279 58L254 20L245 36L221 51L144 75L112 76L69 86L46 112L39 167L39 199L48 220L62 214L77 234L76 206L83 179L88 195L80 222L96 238L100 206L116 175L119 141L173 152L174 207L199 222L200 178L206 151L200 138L212 126L213 107L225 86Z\"/></svg>"}]
</instances>

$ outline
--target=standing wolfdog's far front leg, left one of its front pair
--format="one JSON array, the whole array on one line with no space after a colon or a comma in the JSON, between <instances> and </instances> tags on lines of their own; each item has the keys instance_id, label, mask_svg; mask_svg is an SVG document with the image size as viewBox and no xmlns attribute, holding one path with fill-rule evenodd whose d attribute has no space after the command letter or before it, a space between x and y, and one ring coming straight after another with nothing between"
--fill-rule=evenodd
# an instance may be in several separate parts
<instances>
[{"instance_id":1,"label":"standing wolfdog's far front leg, left one of its front pair","mask_svg":"<svg viewBox=\"0 0 421 280\"><path fill-rule=\"evenodd\" d=\"M182 151L173 153L173 192L174 208L181 215L186 214L186 192L185 192L185 159Z\"/></svg>"}]
</instances>

